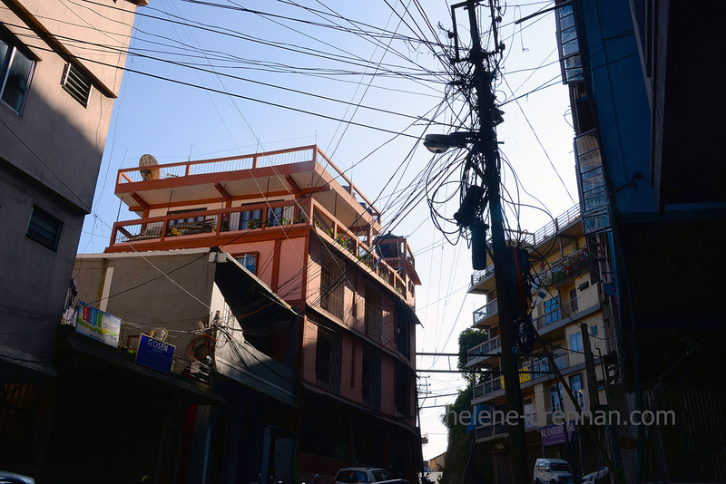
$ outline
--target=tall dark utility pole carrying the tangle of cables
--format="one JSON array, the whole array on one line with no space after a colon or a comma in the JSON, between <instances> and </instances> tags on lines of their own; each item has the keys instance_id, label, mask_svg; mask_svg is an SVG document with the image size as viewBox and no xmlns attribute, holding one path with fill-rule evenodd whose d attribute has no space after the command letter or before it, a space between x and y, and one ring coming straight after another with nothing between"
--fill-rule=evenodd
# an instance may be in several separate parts
<instances>
[{"instance_id":1,"label":"tall dark utility pole carrying the tangle of cables","mask_svg":"<svg viewBox=\"0 0 726 484\"><path fill-rule=\"evenodd\" d=\"M466 6L469 15L469 30L472 40L470 53L474 64L474 79L477 98L477 114L479 117L478 139L474 143L474 150L484 157L482 171L485 174L486 191L489 199L489 215L492 231L492 258L494 259L494 272L496 280L496 294L499 306L499 328L502 343L502 373L505 377L505 398L507 414L520 417L516 423L509 425L509 458L512 466L513 484L529 484L529 470L526 458L525 421L522 403L522 392L519 388L518 362L512 349L515 346L515 321L511 288L514 287L513 258L509 257L505 242L504 218L502 217L502 202L499 193L500 160L499 146L496 141L495 118L499 116L495 108L495 96L492 92L494 73L485 69L484 56L488 55L482 50L479 38L479 29L476 22L475 0L467 0ZM457 6L457 5L455 5ZM495 52L500 52L499 40L496 33L494 0L490 0L492 14L492 28L494 29ZM484 241L486 243L486 240Z\"/></svg>"}]
</instances>

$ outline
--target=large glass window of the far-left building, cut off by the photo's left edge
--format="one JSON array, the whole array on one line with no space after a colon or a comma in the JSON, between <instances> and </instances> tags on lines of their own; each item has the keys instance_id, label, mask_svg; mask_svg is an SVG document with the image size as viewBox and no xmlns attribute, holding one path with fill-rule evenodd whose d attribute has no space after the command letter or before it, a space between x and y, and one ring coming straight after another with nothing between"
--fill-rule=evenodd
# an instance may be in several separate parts
<instances>
[{"instance_id":1,"label":"large glass window of the far-left building, cut off by the photo's left edge","mask_svg":"<svg viewBox=\"0 0 726 484\"><path fill-rule=\"evenodd\" d=\"M0 99L20 114L34 62L13 44L0 39Z\"/></svg>"}]
</instances>

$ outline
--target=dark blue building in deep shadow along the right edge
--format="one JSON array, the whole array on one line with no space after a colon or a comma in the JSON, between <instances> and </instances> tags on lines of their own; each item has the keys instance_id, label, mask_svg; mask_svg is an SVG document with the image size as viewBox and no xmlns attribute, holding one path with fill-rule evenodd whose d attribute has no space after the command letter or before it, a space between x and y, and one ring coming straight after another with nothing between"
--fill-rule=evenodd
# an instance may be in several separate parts
<instances>
[{"instance_id":1,"label":"dark blue building in deep shadow along the right edge","mask_svg":"<svg viewBox=\"0 0 726 484\"><path fill-rule=\"evenodd\" d=\"M722 482L726 470L712 464L726 460L714 427L724 421L724 390L713 369L726 255L696 240L726 236L726 122L711 68L722 57L726 5L565 4L557 33L584 230L612 247L623 382L612 401L628 413L675 415L622 426L613 461L627 481Z\"/></svg>"}]
</instances>

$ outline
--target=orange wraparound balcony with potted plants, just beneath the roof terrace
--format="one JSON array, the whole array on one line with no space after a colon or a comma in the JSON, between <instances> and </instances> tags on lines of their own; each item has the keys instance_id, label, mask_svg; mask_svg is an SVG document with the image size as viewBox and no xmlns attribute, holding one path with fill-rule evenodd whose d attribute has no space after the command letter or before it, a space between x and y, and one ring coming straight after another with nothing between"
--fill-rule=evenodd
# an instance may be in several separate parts
<instances>
[{"instance_id":1,"label":"orange wraparound balcony with potted plants, just beneath the roof terrace","mask_svg":"<svg viewBox=\"0 0 726 484\"><path fill-rule=\"evenodd\" d=\"M390 265L396 263L394 259L378 256L364 241L369 232L349 230L311 199L302 206L295 200L283 200L116 222L106 252L223 247L231 241L284 238L296 232L301 237L310 230L336 247L351 263L377 275L408 305L415 304L414 281L400 276ZM408 256L403 263L410 264Z\"/></svg>"}]
</instances>

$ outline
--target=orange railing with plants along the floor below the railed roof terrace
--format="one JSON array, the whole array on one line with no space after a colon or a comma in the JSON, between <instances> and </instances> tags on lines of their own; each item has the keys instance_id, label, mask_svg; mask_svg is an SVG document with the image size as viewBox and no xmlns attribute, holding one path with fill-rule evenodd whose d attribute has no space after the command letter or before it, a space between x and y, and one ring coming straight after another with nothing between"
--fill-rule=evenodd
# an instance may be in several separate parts
<instances>
[{"instance_id":1,"label":"orange railing with plants along the floor below the railed roof terrace","mask_svg":"<svg viewBox=\"0 0 726 484\"><path fill-rule=\"evenodd\" d=\"M302 207L294 200L284 200L116 222L113 224L109 247L143 247L174 237L186 237L186 240L222 235L240 237L247 233L280 230L281 227L289 226L315 227L321 237L336 243L356 264L368 266L409 305L414 304L407 281L364 242L363 239L368 239L368 233L356 234L348 230L318 202L310 199Z\"/></svg>"}]
</instances>

